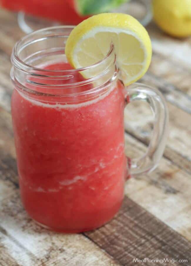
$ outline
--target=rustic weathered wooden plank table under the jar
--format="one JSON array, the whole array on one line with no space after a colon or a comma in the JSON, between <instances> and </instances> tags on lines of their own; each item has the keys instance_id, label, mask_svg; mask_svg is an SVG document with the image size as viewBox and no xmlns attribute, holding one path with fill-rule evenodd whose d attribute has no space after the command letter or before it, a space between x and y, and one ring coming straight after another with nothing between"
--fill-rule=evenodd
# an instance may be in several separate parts
<instances>
[{"instance_id":1,"label":"rustic weathered wooden plank table under the jar","mask_svg":"<svg viewBox=\"0 0 191 266\"><path fill-rule=\"evenodd\" d=\"M110 223L64 235L35 225L20 201L9 71L12 48L24 34L16 14L0 10L1 266L191 265L191 38L170 38L154 23L147 29L153 58L142 82L156 86L167 100L170 133L164 156L153 173L127 182L123 207ZM125 111L131 157L145 152L153 119L146 105L132 104ZM187 262L133 262L147 257Z\"/></svg>"}]
</instances>

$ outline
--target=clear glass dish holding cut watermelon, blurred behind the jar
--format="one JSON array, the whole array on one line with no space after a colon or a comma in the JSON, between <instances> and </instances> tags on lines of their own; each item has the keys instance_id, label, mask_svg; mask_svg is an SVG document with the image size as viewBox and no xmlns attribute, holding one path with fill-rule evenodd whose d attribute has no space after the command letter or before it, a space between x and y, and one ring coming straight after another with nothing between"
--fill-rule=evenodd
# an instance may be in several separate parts
<instances>
[{"instance_id":1,"label":"clear glass dish holding cut watermelon, blurred behind the jar","mask_svg":"<svg viewBox=\"0 0 191 266\"><path fill-rule=\"evenodd\" d=\"M18 23L29 33L42 26L76 25L88 16L103 12L123 12L138 18L146 25L151 20L149 0L2 0L4 8L17 11Z\"/></svg>"}]
</instances>

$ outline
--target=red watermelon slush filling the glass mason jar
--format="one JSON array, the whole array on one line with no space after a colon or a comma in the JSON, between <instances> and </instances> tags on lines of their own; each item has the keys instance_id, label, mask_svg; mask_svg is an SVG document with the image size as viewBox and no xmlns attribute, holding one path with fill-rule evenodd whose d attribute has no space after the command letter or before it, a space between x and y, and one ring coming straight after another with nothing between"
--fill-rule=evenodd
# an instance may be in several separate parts
<instances>
[{"instance_id":1,"label":"red watermelon slush filling the glass mason jar","mask_svg":"<svg viewBox=\"0 0 191 266\"><path fill-rule=\"evenodd\" d=\"M82 77L75 73L67 83L74 79L80 82ZM120 82L99 98L73 105L37 102L14 90L21 198L33 219L75 232L96 228L118 211L126 176L123 109Z\"/></svg>"}]
</instances>

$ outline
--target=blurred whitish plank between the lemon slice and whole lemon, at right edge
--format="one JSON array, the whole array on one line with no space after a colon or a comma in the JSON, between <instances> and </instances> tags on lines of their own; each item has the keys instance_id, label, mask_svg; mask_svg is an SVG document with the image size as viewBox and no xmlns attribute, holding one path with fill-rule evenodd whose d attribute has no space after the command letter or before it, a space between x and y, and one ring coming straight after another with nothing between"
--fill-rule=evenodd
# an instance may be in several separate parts
<instances>
[{"instance_id":1,"label":"blurred whitish plank between the lemon slice and whole lemon, at right edge","mask_svg":"<svg viewBox=\"0 0 191 266\"><path fill-rule=\"evenodd\" d=\"M166 99L191 112L191 37L173 38L162 32L154 22L147 26L153 46L149 72L143 77L158 86ZM182 93L181 93L182 92Z\"/></svg>"}]
</instances>

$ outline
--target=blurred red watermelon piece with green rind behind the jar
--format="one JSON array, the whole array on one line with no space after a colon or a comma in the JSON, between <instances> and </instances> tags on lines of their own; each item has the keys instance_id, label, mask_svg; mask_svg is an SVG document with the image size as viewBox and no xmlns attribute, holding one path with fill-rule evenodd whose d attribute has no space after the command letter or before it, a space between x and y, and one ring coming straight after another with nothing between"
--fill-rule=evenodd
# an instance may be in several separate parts
<instances>
[{"instance_id":1,"label":"blurred red watermelon piece with green rind behind the jar","mask_svg":"<svg viewBox=\"0 0 191 266\"><path fill-rule=\"evenodd\" d=\"M0 0L10 10L77 25L88 16L111 11L128 0Z\"/></svg>"}]
</instances>

